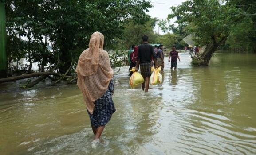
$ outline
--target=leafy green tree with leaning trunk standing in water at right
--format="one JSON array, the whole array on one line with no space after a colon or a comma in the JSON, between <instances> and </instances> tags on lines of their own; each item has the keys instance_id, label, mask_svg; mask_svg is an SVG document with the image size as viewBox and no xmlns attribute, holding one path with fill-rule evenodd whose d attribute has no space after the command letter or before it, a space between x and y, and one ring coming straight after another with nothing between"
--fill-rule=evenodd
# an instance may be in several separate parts
<instances>
[{"instance_id":1,"label":"leafy green tree with leaning trunk standing in water at right","mask_svg":"<svg viewBox=\"0 0 256 155\"><path fill-rule=\"evenodd\" d=\"M189 26L195 34L197 44L206 45L200 56L199 65L207 66L213 53L223 45L231 31L231 26L239 18L239 9L233 4L221 4L219 0L187 0L177 7L171 7L169 18L177 17L177 23Z\"/></svg>"}]
</instances>

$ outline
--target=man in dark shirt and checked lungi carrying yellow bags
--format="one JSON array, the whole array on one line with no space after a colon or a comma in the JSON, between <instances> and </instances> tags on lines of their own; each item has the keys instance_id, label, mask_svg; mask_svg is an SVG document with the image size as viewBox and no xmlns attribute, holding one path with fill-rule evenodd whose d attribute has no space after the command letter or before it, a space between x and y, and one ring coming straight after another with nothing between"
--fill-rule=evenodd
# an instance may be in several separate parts
<instances>
[{"instance_id":1,"label":"man in dark shirt and checked lungi carrying yellow bags","mask_svg":"<svg viewBox=\"0 0 256 155\"><path fill-rule=\"evenodd\" d=\"M149 37L144 35L142 37L142 45L138 46L138 61L136 64L135 71L138 71L138 67L140 65L140 70L142 77L144 78L144 82L142 83L142 90L145 89L145 92L148 92L150 85L150 76L151 76L151 58L154 59L155 68L157 68L157 56L154 52L154 47L148 43Z\"/></svg>"}]
</instances>

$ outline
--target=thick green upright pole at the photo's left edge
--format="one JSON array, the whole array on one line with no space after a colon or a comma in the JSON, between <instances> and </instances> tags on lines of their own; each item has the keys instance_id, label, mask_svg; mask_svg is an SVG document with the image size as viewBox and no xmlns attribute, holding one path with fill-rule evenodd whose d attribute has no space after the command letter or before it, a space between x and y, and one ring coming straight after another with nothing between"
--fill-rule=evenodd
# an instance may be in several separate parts
<instances>
[{"instance_id":1,"label":"thick green upright pole at the photo's left edge","mask_svg":"<svg viewBox=\"0 0 256 155\"><path fill-rule=\"evenodd\" d=\"M6 35L4 0L0 0L0 78L7 77Z\"/></svg>"}]
</instances>

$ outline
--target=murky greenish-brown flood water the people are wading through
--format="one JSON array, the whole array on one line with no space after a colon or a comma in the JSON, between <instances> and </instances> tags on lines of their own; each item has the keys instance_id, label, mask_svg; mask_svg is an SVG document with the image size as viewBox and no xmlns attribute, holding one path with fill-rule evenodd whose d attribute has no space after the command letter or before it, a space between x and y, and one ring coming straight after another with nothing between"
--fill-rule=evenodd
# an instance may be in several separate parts
<instances>
[{"instance_id":1,"label":"murky greenish-brown flood water the people are wading through","mask_svg":"<svg viewBox=\"0 0 256 155\"><path fill-rule=\"evenodd\" d=\"M215 54L209 67L180 57L175 71L165 58L163 84L149 93L130 89L128 67L121 69L117 111L96 147L76 85L2 91L0 154L255 155L256 54Z\"/></svg>"}]
</instances>

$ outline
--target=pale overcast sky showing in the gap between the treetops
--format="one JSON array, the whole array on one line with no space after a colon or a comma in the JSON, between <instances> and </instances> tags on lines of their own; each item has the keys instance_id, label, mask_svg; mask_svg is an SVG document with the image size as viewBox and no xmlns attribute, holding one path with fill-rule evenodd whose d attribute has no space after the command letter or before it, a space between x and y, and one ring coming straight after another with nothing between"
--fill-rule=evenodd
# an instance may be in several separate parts
<instances>
[{"instance_id":1,"label":"pale overcast sky showing in the gap between the treetops","mask_svg":"<svg viewBox=\"0 0 256 155\"><path fill-rule=\"evenodd\" d=\"M149 8L148 15L152 18L157 17L158 19L166 19L168 14L171 13L171 6L177 6L177 4L181 4L186 0L150 0L153 8ZM165 3L165 4L160 4ZM176 5L174 5L176 4ZM173 24L176 19L172 19L171 23ZM155 32L158 32L158 27L155 27ZM164 34L159 28L159 34Z\"/></svg>"}]
</instances>

